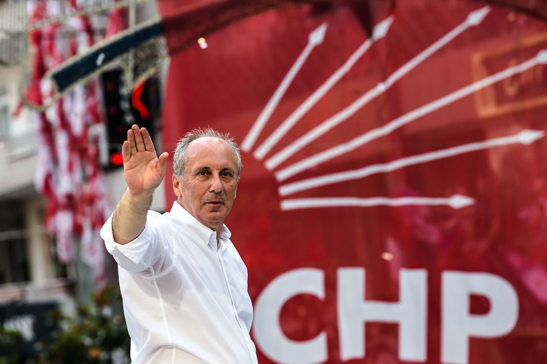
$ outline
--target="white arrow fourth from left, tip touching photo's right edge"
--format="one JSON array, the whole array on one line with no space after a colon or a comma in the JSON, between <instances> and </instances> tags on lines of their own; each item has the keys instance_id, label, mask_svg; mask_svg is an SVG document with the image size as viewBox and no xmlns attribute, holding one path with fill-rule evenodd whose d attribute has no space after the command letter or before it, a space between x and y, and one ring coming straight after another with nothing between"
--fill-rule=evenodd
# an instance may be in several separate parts
<instances>
[{"instance_id":1,"label":"white arrow fourth from left, tip touching photo's right edge","mask_svg":"<svg viewBox=\"0 0 547 364\"><path fill-rule=\"evenodd\" d=\"M519 74L527 69L534 67L537 64L543 63L547 63L547 53L545 50L540 51L536 57L528 59L528 61L526 62L522 62L521 64L509 67L496 74L485 77L484 79L476 81L471 85L460 88L457 91L447 94L444 97L423 105L418 109L412 110L403 116L399 116L398 118L395 118L383 127L370 130L369 132L361 134L357 136L357 138L353 138L352 140L344 144L329 148L323 152L319 152L317 154L314 154L313 156L302 159L300 160L300 162L289 165L286 168L276 172L275 176L278 181L284 181L287 178L294 176L312 166L316 166L320 163L326 162L327 160L333 159L335 157L341 156L342 154L355 150L356 148L363 146L372 140L378 139L381 136L388 135L394 130L412 121L415 121L417 118L430 114L440 108L444 108L444 106L450 105L457 100L464 98L465 96L469 96L470 94L478 91L481 88L490 86L493 83L506 79L507 77L511 77L515 74Z\"/></svg>"}]
</instances>

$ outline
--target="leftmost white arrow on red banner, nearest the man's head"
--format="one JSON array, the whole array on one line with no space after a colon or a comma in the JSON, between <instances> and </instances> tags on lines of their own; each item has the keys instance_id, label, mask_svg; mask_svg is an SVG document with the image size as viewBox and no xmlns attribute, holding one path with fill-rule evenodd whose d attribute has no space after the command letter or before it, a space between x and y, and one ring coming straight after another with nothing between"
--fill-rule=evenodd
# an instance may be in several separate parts
<instances>
[{"instance_id":1,"label":"leftmost white arrow on red banner, nearest the man's head","mask_svg":"<svg viewBox=\"0 0 547 364\"><path fill-rule=\"evenodd\" d=\"M310 56L311 51L318 46L319 44L323 43L323 39L325 38L325 33L327 32L327 23L323 23L321 26L319 26L315 31L311 32L308 37L308 43L302 53L300 53L300 56L296 59L296 62L292 65L292 67L289 69L287 75L283 78L283 81L281 81L280 85L277 87L276 91L258 116L257 120L254 122L253 126L251 127L251 130L247 133L247 136L243 140L241 144L241 149L243 151L250 151L251 148L254 145L254 142L257 140L258 136L260 135L260 132L262 132L262 129L264 129L264 126L266 125L267 121L270 119L272 113L277 108L277 105L281 101L281 98L287 91L287 88L289 88L290 84L293 82L294 77L298 74L300 69L302 68L302 65L306 62L306 59Z\"/></svg>"}]
</instances>

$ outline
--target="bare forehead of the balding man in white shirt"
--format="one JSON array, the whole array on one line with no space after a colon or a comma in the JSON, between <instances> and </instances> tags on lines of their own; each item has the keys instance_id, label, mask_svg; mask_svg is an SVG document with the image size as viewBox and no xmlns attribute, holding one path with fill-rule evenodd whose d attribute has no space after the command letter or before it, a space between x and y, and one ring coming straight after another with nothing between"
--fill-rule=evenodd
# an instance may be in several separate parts
<instances>
[{"instance_id":1,"label":"bare forehead of the balding man in white shirt","mask_svg":"<svg viewBox=\"0 0 547 364\"><path fill-rule=\"evenodd\" d=\"M188 145L186 163L194 166L223 165L222 168L236 168L237 158L234 149L226 141L207 136Z\"/></svg>"}]
</instances>

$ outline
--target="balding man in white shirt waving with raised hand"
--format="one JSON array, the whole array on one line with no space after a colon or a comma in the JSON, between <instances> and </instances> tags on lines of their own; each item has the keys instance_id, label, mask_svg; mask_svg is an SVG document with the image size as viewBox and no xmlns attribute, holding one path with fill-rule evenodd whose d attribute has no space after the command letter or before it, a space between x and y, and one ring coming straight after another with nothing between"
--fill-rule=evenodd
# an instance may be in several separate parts
<instances>
[{"instance_id":1,"label":"balding man in white shirt waving with raised hand","mask_svg":"<svg viewBox=\"0 0 547 364\"><path fill-rule=\"evenodd\" d=\"M165 176L145 128L122 147L127 190L101 230L118 262L131 360L257 363L247 268L224 225L241 172L228 135L196 129L177 144L170 212L148 211Z\"/></svg>"}]
</instances>

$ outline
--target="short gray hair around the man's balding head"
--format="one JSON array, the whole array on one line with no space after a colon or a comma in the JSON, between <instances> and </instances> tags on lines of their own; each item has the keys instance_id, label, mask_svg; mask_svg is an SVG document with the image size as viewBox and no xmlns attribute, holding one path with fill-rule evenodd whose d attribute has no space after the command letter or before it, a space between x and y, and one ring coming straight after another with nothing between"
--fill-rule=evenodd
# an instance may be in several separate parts
<instances>
[{"instance_id":1,"label":"short gray hair around the man's balding head","mask_svg":"<svg viewBox=\"0 0 547 364\"><path fill-rule=\"evenodd\" d=\"M237 178L239 178L241 174L241 154L239 147L234 141L234 137L231 136L229 133L220 133L212 128L197 128L194 130L190 130L190 132L184 134L184 136L178 141L177 146L174 149L173 173L179 177L182 177L184 172L184 164L186 164L186 151L188 150L188 146L194 140L206 137L222 139L232 147L234 153L236 153Z\"/></svg>"}]
</instances>

